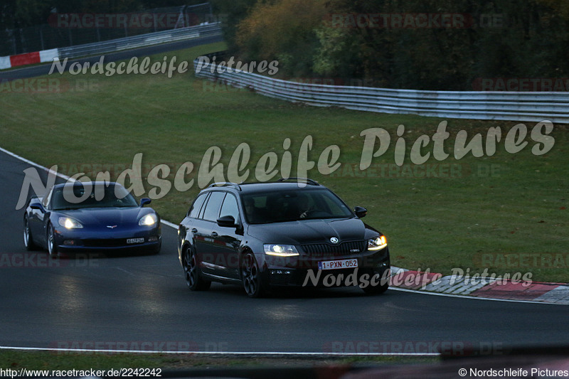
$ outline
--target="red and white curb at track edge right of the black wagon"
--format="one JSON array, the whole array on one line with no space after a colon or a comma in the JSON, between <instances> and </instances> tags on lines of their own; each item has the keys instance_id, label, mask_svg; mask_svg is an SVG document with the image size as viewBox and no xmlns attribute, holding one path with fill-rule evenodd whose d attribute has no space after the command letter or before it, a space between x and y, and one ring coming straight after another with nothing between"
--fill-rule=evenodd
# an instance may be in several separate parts
<instances>
[{"instance_id":1,"label":"red and white curb at track edge right of the black wagon","mask_svg":"<svg viewBox=\"0 0 569 379\"><path fill-rule=\"evenodd\" d=\"M443 277L442 274L392 266L390 284L399 289L450 296L569 304L569 284L565 283L512 282L510 279L457 275Z\"/></svg>"}]
</instances>

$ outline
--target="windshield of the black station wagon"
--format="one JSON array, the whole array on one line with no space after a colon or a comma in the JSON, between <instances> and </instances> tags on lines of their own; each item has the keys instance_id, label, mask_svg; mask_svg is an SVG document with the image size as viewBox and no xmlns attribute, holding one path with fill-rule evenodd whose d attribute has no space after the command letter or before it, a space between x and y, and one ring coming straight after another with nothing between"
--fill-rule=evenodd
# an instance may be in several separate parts
<instances>
[{"instance_id":1,"label":"windshield of the black station wagon","mask_svg":"<svg viewBox=\"0 0 569 379\"><path fill-rule=\"evenodd\" d=\"M327 190L252 193L243 196L243 205L251 224L353 217L346 204Z\"/></svg>"}]
</instances>

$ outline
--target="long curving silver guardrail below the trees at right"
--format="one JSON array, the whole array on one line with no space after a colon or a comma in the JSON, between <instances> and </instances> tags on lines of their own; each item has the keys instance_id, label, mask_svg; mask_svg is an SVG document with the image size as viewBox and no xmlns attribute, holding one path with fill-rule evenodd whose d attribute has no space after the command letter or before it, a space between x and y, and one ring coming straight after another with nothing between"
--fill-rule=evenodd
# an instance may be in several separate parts
<instances>
[{"instance_id":1,"label":"long curving silver guardrail below the trees at right","mask_svg":"<svg viewBox=\"0 0 569 379\"><path fill-rule=\"evenodd\" d=\"M211 58L211 57L210 57ZM194 73L199 58L193 61ZM248 88L262 95L309 105L336 106L392 114L419 114L460 119L569 124L568 92L474 92L390 90L290 82L248 73L217 73L216 65L202 63L196 76Z\"/></svg>"}]
</instances>

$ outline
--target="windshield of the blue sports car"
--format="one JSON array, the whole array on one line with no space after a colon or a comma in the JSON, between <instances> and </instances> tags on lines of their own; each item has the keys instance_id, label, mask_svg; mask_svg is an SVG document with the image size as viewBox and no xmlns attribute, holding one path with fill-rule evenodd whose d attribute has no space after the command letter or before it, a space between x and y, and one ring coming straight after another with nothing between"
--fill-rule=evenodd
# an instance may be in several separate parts
<instances>
[{"instance_id":1,"label":"windshield of the blue sports car","mask_svg":"<svg viewBox=\"0 0 569 379\"><path fill-rule=\"evenodd\" d=\"M55 188L52 195L53 210L80 208L136 207L137 201L123 186L67 186Z\"/></svg>"}]
</instances>

